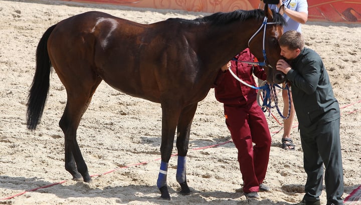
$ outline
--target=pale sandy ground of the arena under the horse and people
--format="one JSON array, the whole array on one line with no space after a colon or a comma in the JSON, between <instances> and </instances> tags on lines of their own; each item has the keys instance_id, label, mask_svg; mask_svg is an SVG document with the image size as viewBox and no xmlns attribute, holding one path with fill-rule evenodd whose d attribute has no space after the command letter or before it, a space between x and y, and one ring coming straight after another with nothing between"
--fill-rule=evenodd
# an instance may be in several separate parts
<instances>
[{"instance_id":1,"label":"pale sandy ground of the arena under the horse and people","mask_svg":"<svg viewBox=\"0 0 361 205\"><path fill-rule=\"evenodd\" d=\"M31 85L35 50L51 25L86 11L102 11L139 23L171 17L195 19L205 14L156 11L119 6L80 5L70 2L0 1L0 198L28 191L0 204L292 204L302 199L306 174L294 121L292 136L296 151L280 148L281 118L268 116L272 132L270 162L265 183L270 192L261 199L246 199L233 143L224 124L223 107L211 89L199 103L191 131L188 154L188 184L191 195L178 194L176 157L168 169L170 201L159 200L156 178L159 169L161 109L159 104L122 94L105 83L97 89L78 129L78 142L93 183L71 180L64 168L63 133L58 122L66 92L57 75L51 76L50 95L36 131L26 128L26 101ZM360 25L307 23L306 44L323 58L341 108L341 144L344 197L361 184L360 108L357 91L361 73ZM280 131L280 132L279 132ZM176 150L173 150L176 153ZM141 165L133 165L147 162ZM63 181L65 180L65 181ZM321 195L325 204L325 192Z\"/></svg>"}]
</instances>

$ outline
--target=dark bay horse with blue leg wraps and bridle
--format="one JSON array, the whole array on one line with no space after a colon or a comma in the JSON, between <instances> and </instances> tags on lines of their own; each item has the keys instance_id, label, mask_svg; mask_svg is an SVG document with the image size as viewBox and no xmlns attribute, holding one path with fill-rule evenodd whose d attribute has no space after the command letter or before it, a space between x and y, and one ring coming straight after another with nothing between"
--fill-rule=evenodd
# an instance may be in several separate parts
<instances>
[{"instance_id":1,"label":"dark bay horse with blue leg wraps and bridle","mask_svg":"<svg viewBox=\"0 0 361 205\"><path fill-rule=\"evenodd\" d=\"M161 104L157 187L161 198L170 199L166 175L176 130L176 180L182 188L180 193L189 194L186 155L198 102L207 96L221 66L248 46L259 61L266 63L268 81L283 82L283 74L271 68L281 58L278 39L284 23L282 15L268 7L264 11L238 10L149 25L101 12L65 19L50 27L37 47L28 97L28 128L35 129L42 117L54 67L67 92L59 122L65 136L65 169L73 179L91 181L76 132L104 80L120 92Z\"/></svg>"}]
</instances>

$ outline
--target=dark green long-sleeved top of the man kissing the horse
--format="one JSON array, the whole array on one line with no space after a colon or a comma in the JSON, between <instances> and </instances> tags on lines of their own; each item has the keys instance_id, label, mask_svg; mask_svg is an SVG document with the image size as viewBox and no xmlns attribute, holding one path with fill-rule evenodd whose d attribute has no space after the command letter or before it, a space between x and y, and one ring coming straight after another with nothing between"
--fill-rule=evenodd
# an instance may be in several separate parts
<instances>
[{"instance_id":1,"label":"dark green long-sleeved top of the man kissing the horse","mask_svg":"<svg viewBox=\"0 0 361 205\"><path fill-rule=\"evenodd\" d=\"M304 48L290 65L292 69L286 78L292 84L299 128L338 119L339 105L321 57L313 50Z\"/></svg>"}]
</instances>

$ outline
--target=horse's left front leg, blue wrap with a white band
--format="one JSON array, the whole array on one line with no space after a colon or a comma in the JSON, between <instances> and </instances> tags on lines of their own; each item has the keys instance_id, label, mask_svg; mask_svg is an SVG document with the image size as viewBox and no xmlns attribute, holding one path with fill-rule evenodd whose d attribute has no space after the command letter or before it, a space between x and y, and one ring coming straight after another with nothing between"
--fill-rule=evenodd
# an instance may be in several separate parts
<instances>
[{"instance_id":1,"label":"horse's left front leg, blue wrap with a white band","mask_svg":"<svg viewBox=\"0 0 361 205\"><path fill-rule=\"evenodd\" d=\"M160 145L160 169L157 179L157 187L160 190L162 199L170 200L166 177L168 162L173 150L174 133L178 121L180 109L174 107L175 103L162 103L162 133Z\"/></svg>"}]
</instances>

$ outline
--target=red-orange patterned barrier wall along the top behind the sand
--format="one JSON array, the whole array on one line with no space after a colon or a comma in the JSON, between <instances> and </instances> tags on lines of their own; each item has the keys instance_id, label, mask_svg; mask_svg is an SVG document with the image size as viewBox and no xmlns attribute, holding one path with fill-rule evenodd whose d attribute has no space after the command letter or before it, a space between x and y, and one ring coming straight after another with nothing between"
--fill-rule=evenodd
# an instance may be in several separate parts
<instances>
[{"instance_id":1,"label":"red-orange patterned barrier wall along the top behind the sand","mask_svg":"<svg viewBox=\"0 0 361 205\"><path fill-rule=\"evenodd\" d=\"M231 12L258 8L259 0L63 0L113 4L140 8L173 9L192 12ZM361 0L308 0L309 21L361 23Z\"/></svg>"}]
</instances>

